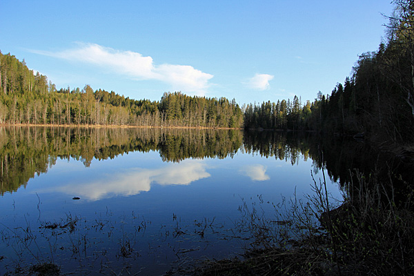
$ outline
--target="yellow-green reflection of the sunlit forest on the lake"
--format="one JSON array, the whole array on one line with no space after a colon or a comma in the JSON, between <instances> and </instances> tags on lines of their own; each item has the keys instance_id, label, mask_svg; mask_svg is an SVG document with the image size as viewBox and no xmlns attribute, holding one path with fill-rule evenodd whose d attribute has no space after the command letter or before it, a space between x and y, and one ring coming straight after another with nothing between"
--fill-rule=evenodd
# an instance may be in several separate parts
<instances>
[{"instance_id":1,"label":"yellow-green reflection of the sunlit forest on the lake","mask_svg":"<svg viewBox=\"0 0 414 276\"><path fill-rule=\"evenodd\" d=\"M235 155L242 140L243 133L236 130L0 127L0 195L26 187L29 179L48 172L57 159L76 159L86 167L93 159L134 151L158 151L163 161L170 162L223 159ZM146 190L144 182L140 185Z\"/></svg>"}]
</instances>

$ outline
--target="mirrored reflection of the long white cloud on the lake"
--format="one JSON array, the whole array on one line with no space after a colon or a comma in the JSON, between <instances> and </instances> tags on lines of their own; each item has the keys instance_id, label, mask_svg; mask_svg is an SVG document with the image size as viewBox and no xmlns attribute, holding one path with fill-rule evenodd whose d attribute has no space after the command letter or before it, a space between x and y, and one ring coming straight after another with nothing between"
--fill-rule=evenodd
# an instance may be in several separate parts
<instances>
[{"instance_id":1,"label":"mirrored reflection of the long white cloud on the lake","mask_svg":"<svg viewBox=\"0 0 414 276\"><path fill-rule=\"evenodd\" d=\"M210 177L210 174L206 172L206 164L203 161L185 160L157 169L132 168L105 175L94 181L66 184L44 191L66 193L67 195L76 193L82 198L96 201L109 197L148 192L152 184L188 185L206 177Z\"/></svg>"}]
</instances>

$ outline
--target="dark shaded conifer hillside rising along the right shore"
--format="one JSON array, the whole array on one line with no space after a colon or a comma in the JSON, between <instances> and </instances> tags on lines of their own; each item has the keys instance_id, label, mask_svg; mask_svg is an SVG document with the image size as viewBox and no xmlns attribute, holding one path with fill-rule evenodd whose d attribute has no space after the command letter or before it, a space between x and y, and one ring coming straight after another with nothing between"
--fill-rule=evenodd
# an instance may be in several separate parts
<instances>
[{"instance_id":1,"label":"dark shaded conifer hillside rising along the right shore","mask_svg":"<svg viewBox=\"0 0 414 276\"><path fill-rule=\"evenodd\" d=\"M361 55L344 84L315 101L248 105L246 128L316 130L407 143L414 139L414 3L395 1L386 42Z\"/></svg>"}]
</instances>

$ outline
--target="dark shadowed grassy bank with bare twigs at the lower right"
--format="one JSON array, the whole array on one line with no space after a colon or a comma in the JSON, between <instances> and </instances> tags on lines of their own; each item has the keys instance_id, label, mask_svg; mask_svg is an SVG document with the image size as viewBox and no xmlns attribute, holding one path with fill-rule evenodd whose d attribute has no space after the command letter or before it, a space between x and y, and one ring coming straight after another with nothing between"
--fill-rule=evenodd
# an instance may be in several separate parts
<instances>
[{"instance_id":1,"label":"dark shadowed grassy bank with bare twigs at the lower right","mask_svg":"<svg viewBox=\"0 0 414 276\"><path fill-rule=\"evenodd\" d=\"M252 238L243 255L171 275L413 275L412 195L398 202L387 179L350 173L356 182L339 202L322 179L313 195L275 206L271 217L244 204L240 227Z\"/></svg>"}]
</instances>

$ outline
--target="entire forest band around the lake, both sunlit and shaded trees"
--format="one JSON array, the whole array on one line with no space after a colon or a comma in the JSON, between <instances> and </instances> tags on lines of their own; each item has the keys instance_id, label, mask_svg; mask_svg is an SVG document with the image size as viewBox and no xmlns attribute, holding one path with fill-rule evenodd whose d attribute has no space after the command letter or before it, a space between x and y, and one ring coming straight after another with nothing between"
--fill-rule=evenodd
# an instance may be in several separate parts
<instances>
[{"instance_id":1,"label":"entire forest band around the lake, both sunlit and shaded trees","mask_svg":"<svg viewBox=\"0 0 414 276\"><path fill-rule=\"evenodd\" d=\"M412 5L399 1L378 50L360 55L343 84L313 101L295 96L241 107L235 99L181 92L150 101L89 85L57 90L24 59L0 52L0 124L308 130L406 144L414 138Z\"/></svg>"}]
</instances>

